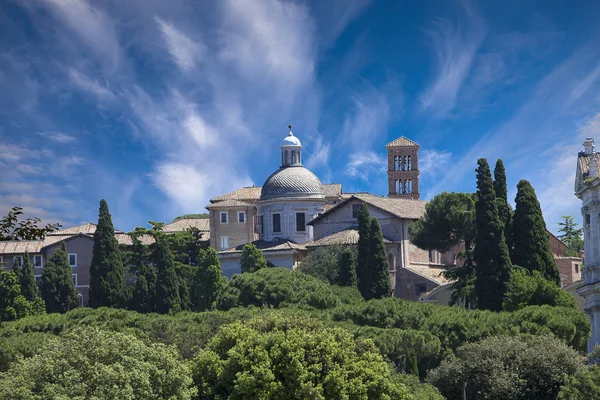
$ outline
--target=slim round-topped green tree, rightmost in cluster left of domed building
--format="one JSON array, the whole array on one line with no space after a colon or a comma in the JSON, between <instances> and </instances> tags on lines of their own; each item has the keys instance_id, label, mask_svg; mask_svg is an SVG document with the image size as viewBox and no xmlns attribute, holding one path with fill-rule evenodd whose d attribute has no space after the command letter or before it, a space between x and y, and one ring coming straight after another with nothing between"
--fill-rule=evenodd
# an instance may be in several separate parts
<instances>
[{"instance_id":1,"label":"slim round-topped green tree, rightmost in cluster left of domed building","mask_svg":"<svg viewBox=\"0 0 600 400\"><path fill-rule=\"evenodd\" d=\"M227 285L227 278L221 272L217 252L212 247L202 251L200 265L194 275L192 285L192 307L195 311L211 310L215 307L217 297Z\"/></svg>"}]
</instances>

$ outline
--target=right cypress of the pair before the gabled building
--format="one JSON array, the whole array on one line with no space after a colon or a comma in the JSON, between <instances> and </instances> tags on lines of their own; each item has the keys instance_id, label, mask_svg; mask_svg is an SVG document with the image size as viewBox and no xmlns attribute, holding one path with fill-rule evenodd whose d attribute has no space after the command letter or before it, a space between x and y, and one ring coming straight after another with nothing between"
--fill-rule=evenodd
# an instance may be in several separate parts
<instances>
[{"instance_id":1,"label":"right cypress of the pair before the gabled building","mask_svg":"<svg viewBox=\"0 0 600 400\"><path fill-rule=\"evenodd\" d=\"M392 293L390 268L387 262L383 232L377 218L371 220L371 240L369 242L370 287L368 299L381 299Z\"/></svg>"}]
</instances>

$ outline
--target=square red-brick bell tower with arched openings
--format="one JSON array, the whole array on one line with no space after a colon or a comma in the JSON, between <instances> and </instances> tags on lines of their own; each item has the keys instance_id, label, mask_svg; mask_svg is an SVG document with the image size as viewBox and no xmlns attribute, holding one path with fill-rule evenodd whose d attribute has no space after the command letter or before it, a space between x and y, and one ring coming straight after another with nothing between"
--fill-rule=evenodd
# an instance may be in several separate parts
<instances>
[{"instance_id":1,"label":"square red-brick bell tower with arched openings","mask_svg":"<svg viewBox=\"0 0 600 400\"><path fill-rule=\"evenodd\" d=\"M419 200L419 145L402 136L388 143L388 197Z\"/></svg>"}]
</instances>

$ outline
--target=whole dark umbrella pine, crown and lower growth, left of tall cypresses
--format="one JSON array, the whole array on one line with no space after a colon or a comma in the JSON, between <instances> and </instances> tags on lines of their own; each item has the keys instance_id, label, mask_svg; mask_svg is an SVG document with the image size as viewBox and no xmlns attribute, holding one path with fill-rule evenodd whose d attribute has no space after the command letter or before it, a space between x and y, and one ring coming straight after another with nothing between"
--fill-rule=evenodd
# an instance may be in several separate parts
<instances>
[{"instance_id":1,"label":"whole dark umbrella pine, crown and lower growth, left of tall cypresses","mask_svg":"<svg viewBox=\"0 0 600 400\"><path fill-rule=\"evenodd\" d=\"M444 271L451 279L451 303L475 305L475 194L443 192L425 206L425 214L409 227L411 241L425 250L446 252L463 243L465 250L458 254L458 265Z\"/></svg>"}]
</instances>

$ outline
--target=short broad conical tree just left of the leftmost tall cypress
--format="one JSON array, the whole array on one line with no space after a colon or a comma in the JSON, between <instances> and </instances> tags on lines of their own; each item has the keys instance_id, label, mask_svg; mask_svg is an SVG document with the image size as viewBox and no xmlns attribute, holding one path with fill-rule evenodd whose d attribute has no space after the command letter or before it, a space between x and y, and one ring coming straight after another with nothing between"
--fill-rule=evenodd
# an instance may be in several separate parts
<instances>
[{"instance_id":1,"label":"short broad conical tree just left of the leftmost tall cypress","mask_svg":"<svg viewBox=\"0 0 600 400\"><path fill-rule=\"evenodd\" d=\"M48 313L65 313L79 306L79 294L73 284L64 242L62 248L56 249L44 265L44 272L40 279L40 295L46 302Z\"/></svg>"}]
</instances>

